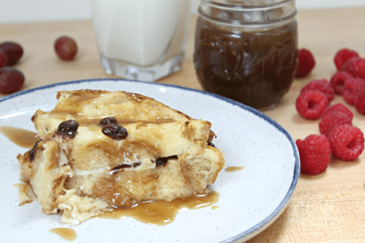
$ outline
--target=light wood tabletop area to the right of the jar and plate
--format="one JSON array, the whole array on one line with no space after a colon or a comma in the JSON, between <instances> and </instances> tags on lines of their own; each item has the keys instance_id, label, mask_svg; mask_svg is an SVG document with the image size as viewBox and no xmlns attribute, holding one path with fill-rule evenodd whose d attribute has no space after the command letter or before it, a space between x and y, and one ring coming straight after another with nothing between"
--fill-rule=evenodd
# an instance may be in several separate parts
<instances>
[{"instance_id":1,"label":"light wood tabletop area to the right of the jar and plate","mask_svg":"<svg viewBox=\"0 0 365 243\"><path fill-rule=\"evenodd\" d=\"M275 119L294 140L320 134L319 121L301 118L295 109L300 89L312 79L327 78L336 72L335 53L351 48L365 57L365 8L299 11L299 47L311 50L316 66L311 74L296 79L275 109L264 113ZM335 103L344 103L336 95ZM354 106L353 125L365 132L365 116ZM334 157L327 170L316 176L300 175L284 213L249 243L364 243L365 242L365 153L355 161Z\"/></svg>"}]
</instances>

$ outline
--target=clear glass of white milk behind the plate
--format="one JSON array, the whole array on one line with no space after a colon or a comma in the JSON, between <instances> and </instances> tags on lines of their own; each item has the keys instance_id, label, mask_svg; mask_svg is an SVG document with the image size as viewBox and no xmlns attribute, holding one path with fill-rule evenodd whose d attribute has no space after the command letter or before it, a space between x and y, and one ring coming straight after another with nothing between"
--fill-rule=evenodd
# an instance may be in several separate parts
<instances>
[{"instance_id":1,"label":"clear glass of white milk behind the plate","mask_svg":"<svg viewBox=\"0 0 365 243\"><path fill-rule=\"evenodd\" d=\"M181 69L190 0L91 0L91 6L107 74L155 81Z\"/></svg>"}]
</instances>

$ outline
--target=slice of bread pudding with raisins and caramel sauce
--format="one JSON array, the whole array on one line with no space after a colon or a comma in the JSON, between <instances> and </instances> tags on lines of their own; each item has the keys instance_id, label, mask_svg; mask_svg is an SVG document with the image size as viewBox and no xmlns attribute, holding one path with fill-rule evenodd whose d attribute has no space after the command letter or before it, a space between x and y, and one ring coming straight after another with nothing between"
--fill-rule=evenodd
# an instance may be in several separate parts
<instances>
[{"instance_id":1,"label":"slice of bread pudding with raisins and caramel sauce","mask_svg":"<svg viewBox=\"0 0 365 243\"><path fill-rule=\"evenodd\" d=\"M32 117L40 140L18 155L42 211L78 224L114 208L203 195L224 166L211 123L124 91L60 91ZM19 187L20 204L31 198Z\"/></svg>"}]
</instances>

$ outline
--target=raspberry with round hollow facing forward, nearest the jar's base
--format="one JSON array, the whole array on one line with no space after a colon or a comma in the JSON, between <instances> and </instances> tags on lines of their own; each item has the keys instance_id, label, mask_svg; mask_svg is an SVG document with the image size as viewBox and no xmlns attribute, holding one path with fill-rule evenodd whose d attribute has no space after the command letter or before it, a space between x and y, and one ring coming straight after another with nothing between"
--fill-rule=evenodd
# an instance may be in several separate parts
<instances>
[{"instance_id":1,"label":"raspberry with round hollow facing forward, nearest the jar's base","mask_svg":"<svg viewBox=\"0 0 365 243\"><path fill-rule=\"evenodd\" d=\"M302 117L315 120L320 117L328 103L327 96L321 91L307 90L298 96L295 107Z\"/></svg>"}]
</instances>

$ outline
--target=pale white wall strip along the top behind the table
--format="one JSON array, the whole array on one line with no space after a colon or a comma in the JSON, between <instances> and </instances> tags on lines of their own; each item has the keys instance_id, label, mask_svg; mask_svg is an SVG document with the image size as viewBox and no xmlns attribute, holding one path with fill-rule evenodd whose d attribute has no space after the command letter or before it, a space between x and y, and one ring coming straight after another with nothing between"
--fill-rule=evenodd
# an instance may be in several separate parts
<instances>
[{"instance_id":1,"label":"pale white wall strip along the top behind the table","mask_svg":"<svg viewBox=\"0 0 365 243\"><path fill-rule=\"evenodd\" d=\"M192 0L193 13L197 12L199 2ZM355 7L365 6L365 0L296 0L296 6L298 9ZM90 0L0 0L0 23L90 18Z\"/></svg>"}]
</instances>

